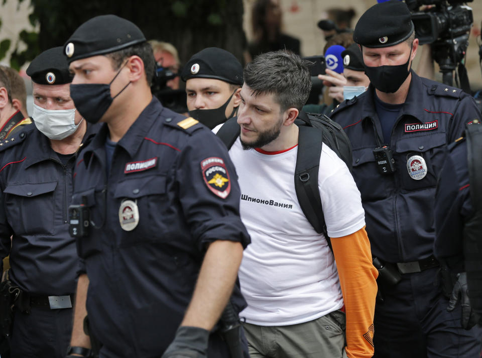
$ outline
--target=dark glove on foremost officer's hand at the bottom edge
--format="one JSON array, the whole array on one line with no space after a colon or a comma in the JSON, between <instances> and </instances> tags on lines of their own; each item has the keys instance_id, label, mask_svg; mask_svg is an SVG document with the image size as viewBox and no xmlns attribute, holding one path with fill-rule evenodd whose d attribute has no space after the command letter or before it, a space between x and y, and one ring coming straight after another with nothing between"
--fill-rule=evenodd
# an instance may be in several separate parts
<instances>
[{"instance_id":1,"label":"dark glove on foremost officer's hand at the bottom edge","mask_svg":"<svg viewBox=\"0 0 482 358\"><path fill-rule=\"evenodd\" d=\"M209 331L182 326L161 358L206 358Z\"/></svg>"}]
</instances>

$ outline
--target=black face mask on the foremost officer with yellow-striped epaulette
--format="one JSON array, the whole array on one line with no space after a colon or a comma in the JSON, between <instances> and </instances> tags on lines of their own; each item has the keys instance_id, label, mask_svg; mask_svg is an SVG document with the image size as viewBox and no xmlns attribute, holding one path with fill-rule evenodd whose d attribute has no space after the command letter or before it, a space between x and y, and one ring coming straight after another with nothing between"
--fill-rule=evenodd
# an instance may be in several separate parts
<instances>
[{"instance_id":1,"label":"black face mask on the foremost officer with yellow-striped epaulette","mask_svg":"<svg viewBox=\"0 0 482 358\"><path fill-rule=\"evenodd\" d=\"M127 64L127 62L126 62ZM124 66L126 66L124 64ZM70 97L74 101L75 107L79 113L89 123L97 123L107 109L112 104L115 97L124 91L127 86L131 84L129 82L119 93L114 97L110 96L110 85L114 79L121 73L124 68L122 66L117 74L112 78L109 84L105 83L84 83L84 84L71 84L70 85Z\"/></svg>"}]
</instances>

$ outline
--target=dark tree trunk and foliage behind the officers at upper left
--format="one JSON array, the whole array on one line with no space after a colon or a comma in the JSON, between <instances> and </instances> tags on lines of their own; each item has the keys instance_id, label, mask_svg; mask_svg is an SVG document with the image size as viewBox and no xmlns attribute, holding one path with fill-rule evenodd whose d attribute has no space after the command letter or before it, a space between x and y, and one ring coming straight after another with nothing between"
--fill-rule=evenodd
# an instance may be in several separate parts
<instances>
[{"instance_id":1,"label":"dark tree trunk and foliage behind the officers at upper left","mask_svg":"<svg viewBox=\"0 0 482 358\"><path fill-rule=\"evenodd\" d=\"M104 14L131 20L149 40L171 42L181 62L209 46L224 48L242 61L246 48L243 0L2 0L11 1L30 1L29 21L39 25L38 33L23 30L19 39L0 42L0 59L15 46L10 63L17 69L40 52L62 46L79 25ZM18 49L21 42L27 45L24 51Z\"/></svg>"}]
</instances>

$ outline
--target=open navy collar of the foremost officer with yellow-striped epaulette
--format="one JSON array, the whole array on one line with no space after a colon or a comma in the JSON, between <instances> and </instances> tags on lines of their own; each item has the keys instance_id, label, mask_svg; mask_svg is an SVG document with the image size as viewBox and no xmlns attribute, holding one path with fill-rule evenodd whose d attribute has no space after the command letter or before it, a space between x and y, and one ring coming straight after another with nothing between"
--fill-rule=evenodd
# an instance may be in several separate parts
<instances>
[{"instance_id":1,"label":"open navy collar of the foremost officer with yellow-striped epaulette","mask_svg":"<svg viewBox=\"0 0 482 358\"><path fill-rule=\"evenodd\" d=\"M129 155L132 157L135 156L139 147L141 146L142 141L144 141L144 137L147 136L149 130L151 129L152 125L154 124L156 118L159 116L160 111L163 109L163 106L159 100L153 96L151 102L147 105L146 108L141 112L139 117L136 121L132 124L131 128L127 131L124 137L117 143L117 145L124 148ZM109 133L109 129L107 124L103 124L100 128L99 132L95 135L92 142L88 145L88 148L84 151L82 158L88 162L88 159L93 153L97 153L98 151L102 152L97 153L99 158L104 155L104 145ZM101 162L103 163L104 160L100 158Z\"/></svg>"}]
</instances>

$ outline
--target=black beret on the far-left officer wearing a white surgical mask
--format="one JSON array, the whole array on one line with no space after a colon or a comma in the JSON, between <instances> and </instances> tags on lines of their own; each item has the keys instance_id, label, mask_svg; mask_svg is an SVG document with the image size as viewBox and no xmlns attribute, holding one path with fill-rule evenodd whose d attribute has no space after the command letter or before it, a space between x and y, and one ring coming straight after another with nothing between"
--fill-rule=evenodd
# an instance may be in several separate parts
<instances>
[{"instance_id":1,"label":"black beret on the far-left officer wearing a white surgical mask","mask_svg":"<svg viewBox=\"0 0 482 358\"><path fill-rule=\"evenodd\" d=\"M69 64L63 47L54 47L38 55L27 68L27 74L37 84L65 84L72 82Z\"/></svg>"}]
</instances>

